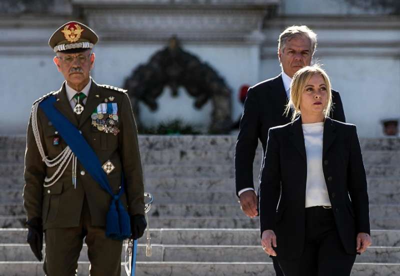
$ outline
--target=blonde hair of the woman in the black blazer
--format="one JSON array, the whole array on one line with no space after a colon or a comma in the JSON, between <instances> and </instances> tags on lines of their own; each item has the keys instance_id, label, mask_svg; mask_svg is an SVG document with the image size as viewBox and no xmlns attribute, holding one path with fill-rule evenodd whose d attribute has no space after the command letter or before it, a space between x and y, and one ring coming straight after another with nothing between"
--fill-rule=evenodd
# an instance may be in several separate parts
<instances>
[{"instance_id":1,"label":"blonde hair of the woman in the black blazer","mask_svg":"<svg viewBox=\"0 0 400 276\"><path fill-rule=\"evenodd\" d=\"M323 110L323 114L325 118L329 116L329 112L332 106L332 91L330 80L326 72L318 65L314 64L312 66L305 66L299 69L293 76L290 84L290 99L286 105L286 109L284 114L287 116L292 110L293 114L291 116L291 121L293 121L300 112L300 100L301 94L303 93L305 86L307 85L310 78L315 75L319 74L322 76L323 81L326 84L326 93L327 93L327 102L325 109Z\"/></svg>"}]
</instances>

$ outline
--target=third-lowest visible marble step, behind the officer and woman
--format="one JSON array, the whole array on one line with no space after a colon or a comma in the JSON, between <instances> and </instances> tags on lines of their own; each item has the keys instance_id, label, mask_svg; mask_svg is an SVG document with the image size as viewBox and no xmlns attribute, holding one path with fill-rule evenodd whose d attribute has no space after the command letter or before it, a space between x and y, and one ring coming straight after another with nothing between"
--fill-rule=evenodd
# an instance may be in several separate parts
<instances>
[{"instance_id":1,"label":"third-lowest visible marble step, behind the officer and woman","mask_svg":"<svg viewBox=\"0 0 400 276\"><path fill-rule=\"evenodd\" d=\"M0 243L25 243L26 228L0 228ZM259 245L259 229L150 228L152 243L193 245ZM400 246L400 230L371 230L372 244ZM145 236L139 243L145 243Z\"/></svg>"}]
</instances>

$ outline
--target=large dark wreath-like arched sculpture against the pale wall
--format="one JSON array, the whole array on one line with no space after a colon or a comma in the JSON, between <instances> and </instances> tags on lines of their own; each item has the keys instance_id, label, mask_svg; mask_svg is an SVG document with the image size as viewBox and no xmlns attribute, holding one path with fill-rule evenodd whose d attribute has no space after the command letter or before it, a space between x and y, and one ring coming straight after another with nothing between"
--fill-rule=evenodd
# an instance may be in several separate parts
<instances>
[{"instance_id":1,"label":"large dark wreath-like arched sculpture against the pale wall","mask_svg":"<svg viewBox=\"0 0 400 276\"><path fill-rule=\"evenodd\" d=\"M173 96L178 95L178 87L184 87L195 98L194 107L197 109L211 100L213 109L209 132L229 131L232 123L230 89L211 66L184 51L176 37L170 38L165 48L155 52L148 63L137 66L125 80L123 87L128 90L139 125L138 102L156 110L156 99L165 86L171 88Z\"/></svg>"}]
</instances>

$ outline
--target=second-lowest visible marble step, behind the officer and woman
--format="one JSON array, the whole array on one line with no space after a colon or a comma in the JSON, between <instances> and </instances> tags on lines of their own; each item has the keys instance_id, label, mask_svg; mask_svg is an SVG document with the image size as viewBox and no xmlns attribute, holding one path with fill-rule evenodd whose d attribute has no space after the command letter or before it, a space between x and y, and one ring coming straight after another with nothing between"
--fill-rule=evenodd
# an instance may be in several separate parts
<instances>
[{"instance_id":1,"label":"second-lowest visible marble step, behind the officer and woman","mask_svg":"<svg viewBox=\"0 0 400 276\"><path fill-rule=\"evenodd\" d=\"M279 241L277 241L279 242ZM279 244L279 243L278 243ZM43 245L45 247L45 245ZM163 245L152 244L152 255L145 255L145 244L139 244L138 261L265 261L267 255L261 245ZM27 243L0 244L0 261L34 261L35 256ZM43 248L44 252L44 248ZM125 253L122 252L123 260ZM87 246L83 244L80 261L88 261ZM370 246L358 255L356 262L400 262L400 247Z\"/></svg>"}]
</instances>

